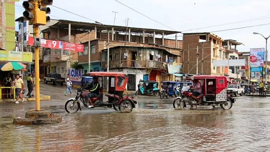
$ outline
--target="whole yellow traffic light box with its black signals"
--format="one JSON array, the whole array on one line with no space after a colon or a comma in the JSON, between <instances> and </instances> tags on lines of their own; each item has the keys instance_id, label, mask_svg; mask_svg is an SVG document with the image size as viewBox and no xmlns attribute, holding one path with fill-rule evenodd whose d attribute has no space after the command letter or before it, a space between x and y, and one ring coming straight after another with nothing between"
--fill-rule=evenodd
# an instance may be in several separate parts
<instances>
[{"instance_id":1,"label":"whole yellow traffic light box with its black signals","mask_svg":"<svg viewBox=\"0 0 270 152\"><path fill-rule=\"evenodd\" d=\"M46 7L47 5L52 5L52 0L28 0L22 3L25 8L23 16L29 21L29 25L46 25L50 22L50 17L46 14L51 13L51 9Z\"/></svg>"}]
</instances>

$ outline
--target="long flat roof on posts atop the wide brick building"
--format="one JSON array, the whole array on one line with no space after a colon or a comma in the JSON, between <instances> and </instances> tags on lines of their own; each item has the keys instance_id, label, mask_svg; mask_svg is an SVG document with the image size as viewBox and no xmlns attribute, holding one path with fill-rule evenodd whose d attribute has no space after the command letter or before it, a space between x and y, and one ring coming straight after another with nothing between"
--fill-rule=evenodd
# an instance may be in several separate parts
<instances>
[{"instance_id":1,"label":"long flat roof on posts atop the wide brick building","mask_svg":"<svg viewBox=\"0 0 270 152\"><path fill-rule=\"evenodd\" d=\"M96 24L96 23L89 23L89 22L77 22L77 21L71 21L71 20L58 20L56 24L51 25L50 27L60 27L63 29L68 29L69 28L69 23L71 24L71 29L77 29L77 30L94 30L95 27L97 30L111 30L112 28L114 31L120 31L120 32L126 32L127 27L126 26L113 26L113 25L105 25L105 24ZM50 28L49 27L49 28ZM42 30L48 31L48 29ZM130 29L131 33L142 33L144 31L146 34L153 34L155 31L156 35L171 35L171 34L176 34L176 33L181 33L180 31L168 31L168 30L159 30L159 29L145 29L145 28L136 28L136 27L128 27Z\"/></svg>"}]
</instances>

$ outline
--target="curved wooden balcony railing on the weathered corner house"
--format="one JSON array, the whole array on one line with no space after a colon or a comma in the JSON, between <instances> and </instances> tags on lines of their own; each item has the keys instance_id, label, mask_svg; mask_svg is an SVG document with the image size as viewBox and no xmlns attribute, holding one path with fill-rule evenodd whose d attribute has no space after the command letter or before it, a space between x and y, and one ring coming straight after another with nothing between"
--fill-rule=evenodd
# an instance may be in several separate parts
<instances>
[{"instance_id":1,"label":"curved wooden balcony railing on the weathered corner house","mask_svg":"<svg viewBox=\"0 0 270 152\"><path fill-rule=\"evenodd\" d=\"M101 68L107 69L107 62L101 62ZM136 68L136 69L160 69L168 71L167 64L160 61L146 61L146 60L115 60L109 61L110 69L119 68Z\"/></svg>"}]
</instances>

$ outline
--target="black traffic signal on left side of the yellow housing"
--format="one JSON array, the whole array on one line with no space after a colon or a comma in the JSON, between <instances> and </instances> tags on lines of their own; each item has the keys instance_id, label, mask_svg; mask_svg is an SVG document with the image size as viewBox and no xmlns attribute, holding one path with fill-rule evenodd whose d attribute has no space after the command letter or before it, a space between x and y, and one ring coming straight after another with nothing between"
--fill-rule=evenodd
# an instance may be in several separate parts
<instances>
[{"instance_id":1,"label":"black traffic signal on left side of the yellow housing","mask_svg":"<svg viewBox=\"0 0 270 152\"><path fill-rule=\"evenodd\" d=\"M35 14L35 9L34 9L34 1L29 0L29 1L24 1L22 3L22 7L25 9L25 11L22 13L23 17L26 20L29 20L29 24L34 23L34 14Z\"/></svg>"}]
</instances>

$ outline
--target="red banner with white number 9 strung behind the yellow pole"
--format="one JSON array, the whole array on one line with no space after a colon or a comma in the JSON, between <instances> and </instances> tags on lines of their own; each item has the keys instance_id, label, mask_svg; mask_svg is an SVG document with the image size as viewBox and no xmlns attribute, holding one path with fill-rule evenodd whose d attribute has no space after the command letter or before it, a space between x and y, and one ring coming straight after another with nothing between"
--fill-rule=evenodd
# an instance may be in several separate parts
<instances>
[{"instance_id":1,"label":"red banner with white number 9 strung behind the yellow pole","mask_svg":"<svg viewBox=\"0 0 270 152\"><path fill-rule=\"evenodd\" d=\"M67 51L76 51L83 52L83 44L75 44L69 42L62 41L53 41L47 39L41 39L40 41L41 47L51 48L51 49L59 49L59 50L67 50ZM34 38L28 37L28 45L34 45Z\"/></svg>"}]
</instances>

